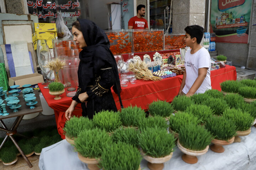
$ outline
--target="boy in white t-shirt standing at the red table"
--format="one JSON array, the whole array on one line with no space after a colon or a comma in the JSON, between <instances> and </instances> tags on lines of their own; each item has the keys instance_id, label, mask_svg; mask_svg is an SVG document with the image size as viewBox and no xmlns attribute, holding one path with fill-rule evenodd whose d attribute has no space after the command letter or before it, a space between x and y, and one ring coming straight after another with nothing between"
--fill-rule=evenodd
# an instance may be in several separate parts
<instances>
[{"instance_id":1,"label":"boy in white t-shirt standing at the red table","mask_svg":"<svg viewBox=\"0 0 256 170\"><path fill-rule=\"evenodd\" d=\"M204 29L198 25L185 28L186 45L191 47L185 55L185 72L178 95L192 96L212 89L210 81L210 55L200 45Z\"/></svg>"}]
</instances>

